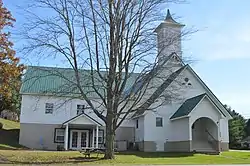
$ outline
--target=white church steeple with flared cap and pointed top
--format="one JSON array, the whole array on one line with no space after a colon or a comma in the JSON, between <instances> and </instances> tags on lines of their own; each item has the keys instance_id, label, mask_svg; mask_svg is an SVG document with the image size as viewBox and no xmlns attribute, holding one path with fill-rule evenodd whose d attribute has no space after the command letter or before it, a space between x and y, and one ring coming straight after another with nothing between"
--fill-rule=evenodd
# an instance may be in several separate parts
<instances>
[{"instance_id":1,"label":"white church steeple with flared cap and pointed top","mask_svg":"<svg viewBox=\"0 0 250 166\"><path fill-rule=\"evenodd\" d=\"M158 60L162 61L175 52L181 58L181 36L184 24L175 21L169 11L163 22L155 29L157 33Z\"/></svg>"}]
</instances>

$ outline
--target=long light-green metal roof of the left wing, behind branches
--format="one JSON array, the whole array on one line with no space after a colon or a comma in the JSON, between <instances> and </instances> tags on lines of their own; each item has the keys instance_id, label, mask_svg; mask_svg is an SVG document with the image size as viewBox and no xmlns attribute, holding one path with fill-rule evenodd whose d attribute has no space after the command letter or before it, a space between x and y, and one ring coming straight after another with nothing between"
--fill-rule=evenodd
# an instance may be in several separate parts
<instances>
[{"instance_id":1,"label":"long light-green metal roof of the left wing, behind branches","mask_svg":"<svg viewBox=\"0 0 250 166\"><path fill-rule=\"evenodd\" d=\"M105 75L106 72L101 72ZM79 70L80 85L88 97L97 97L92 89L91 71ZM95 72L95 88L99 93L104 93L104 83ZM125 90L132 86L138 77L138 73L131 74L127 80ZM99 80L99 81L98 81ZM22 81L21 94L53 94L59 96L77 96L79 89L76 85L75 71L70 68L28 66Z\"/></svg>"}]
</instances>

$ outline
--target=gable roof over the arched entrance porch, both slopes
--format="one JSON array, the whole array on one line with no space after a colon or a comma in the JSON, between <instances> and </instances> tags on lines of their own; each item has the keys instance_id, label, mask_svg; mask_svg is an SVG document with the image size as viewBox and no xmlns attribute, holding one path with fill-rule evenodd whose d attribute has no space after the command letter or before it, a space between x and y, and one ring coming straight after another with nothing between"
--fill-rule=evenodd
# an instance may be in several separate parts
<instances>
[{"instance_id":1,"label":"gable roof over the arched entrance porch, both slopes","mask_svg":"<svg viewBox=\"0 0 250 166\"><path fill-rule=\"evenodd\" d=\"M179 109L170 117L171 120L179 119L187 117L194 108L205 98L207 97L209 101L219 110L219 112L226 117L226 115L223 113L223 111L213 102L213 100L206 94L200 94L198 96L192 97L187 99L180 107Z\"/></svg>"}]
</instances>

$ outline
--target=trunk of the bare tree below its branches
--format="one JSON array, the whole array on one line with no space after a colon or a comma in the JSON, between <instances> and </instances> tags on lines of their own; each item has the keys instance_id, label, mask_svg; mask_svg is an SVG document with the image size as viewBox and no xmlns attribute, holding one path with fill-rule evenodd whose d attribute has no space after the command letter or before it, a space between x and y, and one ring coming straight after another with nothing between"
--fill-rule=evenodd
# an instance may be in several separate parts
<instances>
[{"instance_id":1,"label":"trunk of the bare tree below its branches","mask_svg":"<svg viewBox=\"0 0 250 166\"><path fill-rule=\"evenodd\" d=\"M114 159L114 139L115 139L115 132L113 127L113 118L112 116L107 116L106 122L106 151L104 159Z\"/></svg>"}]
</instances>

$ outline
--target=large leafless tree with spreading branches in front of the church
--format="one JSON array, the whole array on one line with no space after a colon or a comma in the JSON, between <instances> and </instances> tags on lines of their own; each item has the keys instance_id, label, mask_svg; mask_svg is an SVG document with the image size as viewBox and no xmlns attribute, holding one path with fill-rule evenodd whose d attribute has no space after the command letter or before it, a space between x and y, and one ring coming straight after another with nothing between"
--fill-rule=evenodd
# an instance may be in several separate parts
<instances>
[{"instance_id":1,"label":"large leafless tree with spreading branches in front of the church","mask_svg":"<svg viewBox=\"0 0 250 166\"><path fill-rule=\"evenodd\" d=\"M67 82L60 95L77 91L105 122L106 159L114 158L115 131L126 118L175 96L173 91L162 92L185 67L175 71L170 67L168 70L174 72L168 78L161 74L168 59L158 61L161 50L157 51L154 33L161 18L159 9L170 2L179 1L34 0L26 10L29 21L22 32L27 41L23 50L66 59L74 76L69 79L60 72L51 74ZM35 14L35 9L49 11L49 16ZM161 42L168 47L188 33ZM83 73L84 69L89 70ZM98 106L90 93L98 97Z\"/></svg>"}]
</instances>

